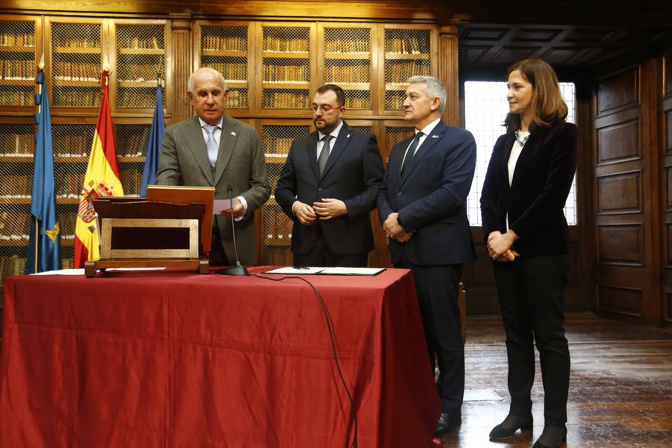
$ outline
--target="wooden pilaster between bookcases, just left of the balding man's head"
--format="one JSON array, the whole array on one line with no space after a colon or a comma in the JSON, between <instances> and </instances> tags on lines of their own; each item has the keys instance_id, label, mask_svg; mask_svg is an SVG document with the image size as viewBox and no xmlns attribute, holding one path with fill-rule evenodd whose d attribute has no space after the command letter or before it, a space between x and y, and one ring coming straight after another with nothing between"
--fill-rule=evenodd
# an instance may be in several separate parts
<instances>
[{"instance_id":1,"label":"wooden pilaster between bookcases, just left of the balding man's head","mask_svg":"<svg viewBox=\"0 0 672 448\"><path fill-rule=\"evenodd\" d=\"M166 64L172 67L173 80L172 85L166 85L166 89L172 89L174 95L171 105L173 111L172 119L167 120L167 125L175 124L194 116L194 109L187 96L189 75L194 71L195 65L193 62L194 50L192 47L191 17L180 14L171 15L169 24L171 26L173 52L171 54L172 57L166 59Z\"/></svg>"}]
</instances>

